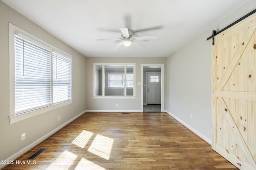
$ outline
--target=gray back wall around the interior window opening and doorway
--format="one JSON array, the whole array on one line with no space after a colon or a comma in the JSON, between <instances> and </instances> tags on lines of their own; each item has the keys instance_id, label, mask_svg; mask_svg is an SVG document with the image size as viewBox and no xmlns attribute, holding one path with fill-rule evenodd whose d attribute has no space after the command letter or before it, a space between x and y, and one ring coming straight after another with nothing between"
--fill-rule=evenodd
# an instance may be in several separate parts
<instances>
[{"instance_id":1,"label":"gray back wall around the interior window opening and doorway","mask_svg":"<svg viewBox=\"0 0 256 170\"><path fill-rule=\"evenodd\" d=\"M87 110L140 110L140 88L141 82L141 64L164 64L166 73L166 57L86 57L86 109ZM136 99L94 99L93 98L93 63L136 63ZM165 74L165 80L166 80ZM141 82L142 85L138 85ZM166 81L164 85L164 94L166 94ZM166 96L164 97L166 109ZM119 106L116 107L116 104Z\"/></svg>"}]
</instances>

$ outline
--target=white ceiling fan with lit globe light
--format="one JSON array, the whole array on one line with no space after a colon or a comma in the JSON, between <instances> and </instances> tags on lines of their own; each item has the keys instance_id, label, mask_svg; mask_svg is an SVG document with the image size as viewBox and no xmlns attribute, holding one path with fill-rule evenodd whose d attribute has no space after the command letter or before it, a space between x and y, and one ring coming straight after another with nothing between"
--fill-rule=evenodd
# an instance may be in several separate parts
<instances>
[{"instance_id":1,"label":"white ceiling fan with lit globe light","mask_svg":"<svg viewBox=\"0 0 256 170\"><path fill-rule=\"evenodd\" d=\"M133 42L138 43L136 40L152 40L152 39L157 39L156 35L149 35L149 36L140 36L140 37L133 37L134 31L131 29L125 28L125 27L120 27L121 30L121 38L119 39L97 39L97 41L102 41L102 40L120 40L121 42L116 45L113 49L118 49L120 46L124 45L125 47L129 47L132 45ZM142 45L141 43L138 43ZM144 45L142 45L144 46ZM146 46L144 46L146 47Z\"/></svg>"}]
</instances>

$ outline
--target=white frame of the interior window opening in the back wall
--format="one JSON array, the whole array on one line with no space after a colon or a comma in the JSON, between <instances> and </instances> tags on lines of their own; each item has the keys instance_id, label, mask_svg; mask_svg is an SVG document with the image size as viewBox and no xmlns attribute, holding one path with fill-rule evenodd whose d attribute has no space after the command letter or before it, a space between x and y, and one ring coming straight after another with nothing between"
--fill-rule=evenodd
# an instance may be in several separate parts
<instances>
[{"instance_id":1,"label":"white frame of the interior window opening in the back wall","mask_svg":"<svg viewBox=\"0 0 256 170\"><path fill-rule=\"evenodd\" d=\"M108 84L105 84L105 76L102 75L102 96L97 96L96 95L96 66L98 65L102 65L102 72L105 75L105 66L124 66L124 81L126 81L126 74L129 74L129 72L127 71L127 66L128 65L132 65L133 66L133 95L132 96L126 96L126 89L130 89L131 87L124 87L124 96L105 96L104 94L104 86L108 86ZM94 99L102 99L102 98L106 98L106 99L135 99L136 98L136 64L135 63L93 63L93 98Z\"/></svg>"}]
</instances>

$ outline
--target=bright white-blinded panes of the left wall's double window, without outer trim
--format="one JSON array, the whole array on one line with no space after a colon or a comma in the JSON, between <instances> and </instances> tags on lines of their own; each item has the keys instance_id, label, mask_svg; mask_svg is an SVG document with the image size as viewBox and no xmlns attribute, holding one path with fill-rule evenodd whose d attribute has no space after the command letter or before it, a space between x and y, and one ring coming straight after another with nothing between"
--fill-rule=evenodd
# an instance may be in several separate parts
<instances>
[{"instance_id":1,"label":"bright white-blinded panes of the left wall's double window, without outer trim","mask_svg":"<svg viewBox=\"0 0 256 170\"><path fill-rule=\"evenodd\" d=\"M15 35L14 42L15 114L70 100L70 59L51 53L18 35Z\"/></svg>"}]
</instances>

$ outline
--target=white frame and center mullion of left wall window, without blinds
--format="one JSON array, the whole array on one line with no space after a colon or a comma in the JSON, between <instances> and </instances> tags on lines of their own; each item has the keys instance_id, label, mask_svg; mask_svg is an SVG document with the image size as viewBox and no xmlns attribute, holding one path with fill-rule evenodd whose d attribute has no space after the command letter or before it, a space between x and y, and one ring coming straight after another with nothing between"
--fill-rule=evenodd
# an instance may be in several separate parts
<instances>
[{"instance_id":1,"label":"white frame and center mullion of left wall window, without blinds","mask_svg":"<svg viewBox=\"0 0 256 170\"><path fill-rule=\"evenodd\" d=\"M51 102L50 106L42 107L39 109L34 109L32 111L27 111L24 113L16 114L15 113L15 46L14 46L14 36L18 33L19 37L22 37L26 39L27 41L30 41L31 43L34 43L36 45L39 45L45 49L48 49L51 51L51 63L52 63L52 52L57 53L58 55L62 55L63 57L66 57L70 59L71 64L71 80L70 80L70 100L60 102L53 104L53 101ZM51 81L52 80L52 66L51 66ZM18 121L22 121L24 119L28 119L30 117L34 117L36 115L40 115L42 113L46 113L48 111L51 111L53 109L57 109L63 106L66 106L68 104L72 104L72 56L68 53L50 45L49 43L46 43L42 39L39 39L38 37L35 37L34 35L20 29L19 27L12 25L9 23L9 119L10 124L16 123ZM53 84L51 83L51 90L53 90ZM52 96L53 97L53 96Z\"/></svg>"}]
</instances>

